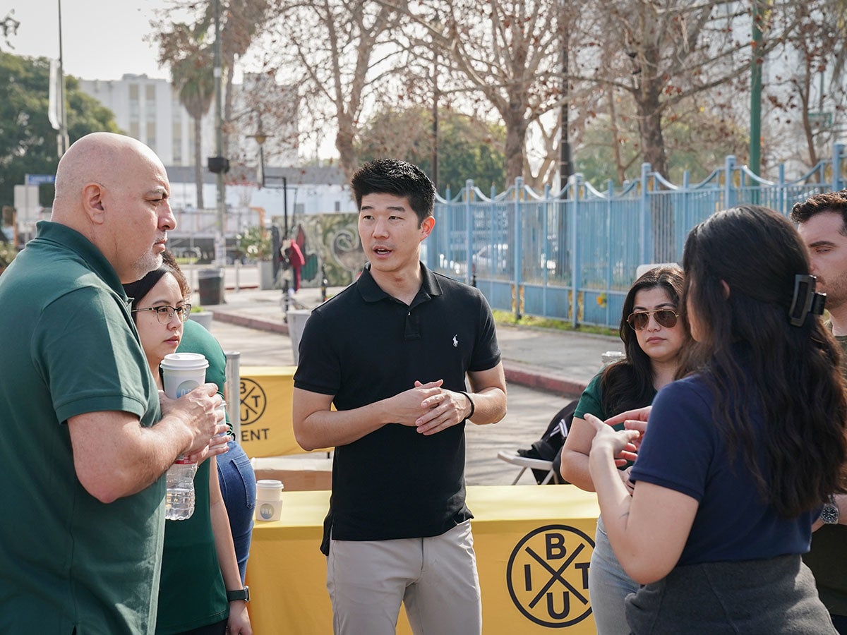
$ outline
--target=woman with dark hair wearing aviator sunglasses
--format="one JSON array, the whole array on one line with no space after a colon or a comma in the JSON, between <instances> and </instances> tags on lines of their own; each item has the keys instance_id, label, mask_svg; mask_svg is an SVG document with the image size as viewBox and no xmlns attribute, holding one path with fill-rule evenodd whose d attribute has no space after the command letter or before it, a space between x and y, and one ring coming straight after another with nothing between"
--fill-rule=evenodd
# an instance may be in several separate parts
<instances>
[{"instance_id":1,"label":"woman with dark hair wearing aviator sunglasses","mask_svg":"<svg viewBox=\"0 0 847 635\"><path fill-rule=\"evenodd\" d=\"M605 367L585 389L562 447L562 478L593 492L589 452L595 429L588 414L605 420L619 412L649 406L656 391L670 384L680 368L680 353L689 334L678 319L682 270L656 267L635 281L623 301L620 336L626 356ZM623 429L623 423L618 426ZM619 461L617 477L627 488L631 462ZM602 516L597 519L595 549L589 569L591 611L599 635L628 635L624 602L639 588L617 562Z\"/></svg>"}]
</instances>

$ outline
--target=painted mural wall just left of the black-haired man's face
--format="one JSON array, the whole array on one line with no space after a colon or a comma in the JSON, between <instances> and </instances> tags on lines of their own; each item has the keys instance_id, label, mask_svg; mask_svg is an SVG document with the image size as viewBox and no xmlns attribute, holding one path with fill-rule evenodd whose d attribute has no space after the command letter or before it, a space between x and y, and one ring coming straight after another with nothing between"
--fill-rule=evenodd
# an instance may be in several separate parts
<instances>
[{"instance_id":1,"label":"painted mural wall just left of the black-haired man's face","mask_svg":"<svg viewBox=\"0 0 847 635\"><path fill-rule=\"evenodd\" d=\"M283 219L274 217L281 227ZM324 265L327 284L346 286L356 279L367 262L357 229L358 214L307 214L293 219L291 239L303 252L306 263L301 271L301 284L319 287Z\"/></svg>"}]
</instances>

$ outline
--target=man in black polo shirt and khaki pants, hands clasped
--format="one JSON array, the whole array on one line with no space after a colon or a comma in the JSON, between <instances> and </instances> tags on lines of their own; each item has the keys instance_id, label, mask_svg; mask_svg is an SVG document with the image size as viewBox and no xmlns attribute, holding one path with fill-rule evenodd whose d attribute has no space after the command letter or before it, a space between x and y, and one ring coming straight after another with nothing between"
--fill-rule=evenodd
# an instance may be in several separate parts
<instances>
[{"instance_id":1,"label":"man in black polo shirt and khaki pants, hands clasped","mask_svg":"<svg viewBox=\"0 0 847 635\"><path fill-rule=\"evenodd\" d=\"M494 319L420 262L435 226L420 169L379 159L352 187L369 265L309 317L294 376L297 442L335 446L321 544L335 632L394 633L405 602L414 632L479 633L464 425L506 414Z\"/></svg>"}]
</instances>

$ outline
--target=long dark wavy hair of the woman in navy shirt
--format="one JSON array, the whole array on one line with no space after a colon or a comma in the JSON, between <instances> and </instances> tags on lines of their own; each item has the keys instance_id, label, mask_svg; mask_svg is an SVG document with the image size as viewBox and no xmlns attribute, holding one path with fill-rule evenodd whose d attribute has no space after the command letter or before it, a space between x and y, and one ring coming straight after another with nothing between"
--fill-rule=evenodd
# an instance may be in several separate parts
<instances>
[{"instance_id":1,"label":"long dark wavy hair of the woman in navy shirt","mask_svg":"<svg viewBox=\"0 0 847 635\"><path fill-rule=\"evenodd\" d=\"M809 273L789 220L754 205L716 213L689 233L683 268L696 354L730 456L743 453L763 498L785 517L844 492L839 349L817 315L789 322L794 276ZM757 414L764 434L750 423Z\"/></svg>"}]
</instances>

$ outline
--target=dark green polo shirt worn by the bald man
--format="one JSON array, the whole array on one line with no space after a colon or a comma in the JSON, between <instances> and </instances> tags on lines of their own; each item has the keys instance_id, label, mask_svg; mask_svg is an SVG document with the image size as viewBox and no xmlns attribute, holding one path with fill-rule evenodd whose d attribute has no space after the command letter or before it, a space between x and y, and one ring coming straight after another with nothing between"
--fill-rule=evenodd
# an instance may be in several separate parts
<instances>
[{"instance_id":1,"label":"dark green polo shirt worn by the bald man","mask_svg":"<svg viewBox=\"0 0 847 635\"><path fill-rule=\"evenodd\" d=\"M76 478L69 417L158 393L123 287L83 235L42 222L0 276L0 632L152 632L164 479L103 504Z\"/></svg>"}]
</instances>

